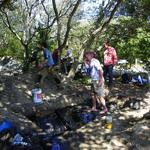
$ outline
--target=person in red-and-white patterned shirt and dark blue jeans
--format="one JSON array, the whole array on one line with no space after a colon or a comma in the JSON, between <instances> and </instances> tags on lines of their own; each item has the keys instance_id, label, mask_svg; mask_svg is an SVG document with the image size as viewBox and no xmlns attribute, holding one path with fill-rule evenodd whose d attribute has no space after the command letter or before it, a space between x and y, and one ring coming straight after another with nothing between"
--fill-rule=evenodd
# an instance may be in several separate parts
<instances>
[{"instance_id":1,"label":"person in red-and-white patterned shirt and dark blue jeans","mask_svg":"<svg viewBox=\"0 0 150 150\"><path fill-rule=\"evenodd\" d=\"M104 79L109 76L109 86L113 83L113 67L117 63L116 50L110 46L109 41L104 43Z\"/></svg>"}]
</instances>

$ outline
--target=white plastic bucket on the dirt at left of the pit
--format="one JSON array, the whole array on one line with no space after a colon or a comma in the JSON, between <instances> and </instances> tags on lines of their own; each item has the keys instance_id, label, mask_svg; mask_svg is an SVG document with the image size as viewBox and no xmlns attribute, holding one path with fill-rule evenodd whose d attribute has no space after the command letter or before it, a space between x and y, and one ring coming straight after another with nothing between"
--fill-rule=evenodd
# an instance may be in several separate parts
<instances>
[{"instance_id":1,"label":"white plastic bucket on the dirt at left of the pit","mask_svg":"<svg viewBox=\"0 0 150 150\"><path fill-rule=\"evenodd\" d=\"M32 90L32 99L34 103L42 103L42 90L40 88Z\"/></svg>"}]
</instances>

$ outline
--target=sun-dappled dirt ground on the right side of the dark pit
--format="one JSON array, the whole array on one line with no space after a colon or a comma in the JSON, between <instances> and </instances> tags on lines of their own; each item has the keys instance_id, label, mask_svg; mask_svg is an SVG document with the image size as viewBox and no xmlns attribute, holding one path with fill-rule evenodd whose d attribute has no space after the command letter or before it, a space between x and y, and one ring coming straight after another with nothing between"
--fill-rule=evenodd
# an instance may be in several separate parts
<instances>
[{"instance_id":1,"label":"sun-dappled dirt ground on the right side of the dark pit","mask_svg":"<svg viewBox=\"0 0 150 150\"><path fill-rule=\"evenodd\" d=\"M140 101L138 110L130 108L132 100ZM60 136L63 143L72 150L149 150L150 120L144 116L150 115L148 88L117 81L107 101L112 109L112 130L105 127L105 116L99 116L94 122Z\"/></svg>"}]
</instances>

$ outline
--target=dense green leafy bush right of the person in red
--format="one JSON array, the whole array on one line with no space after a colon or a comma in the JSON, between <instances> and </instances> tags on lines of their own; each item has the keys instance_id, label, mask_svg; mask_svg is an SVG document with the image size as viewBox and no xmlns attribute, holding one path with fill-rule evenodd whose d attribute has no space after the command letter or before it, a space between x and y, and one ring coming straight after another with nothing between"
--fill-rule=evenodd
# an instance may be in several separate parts
<instances>
[{"instance_id":1,"label":"dense green leafy bush right of the person in red","mask_svg":"<svg viewBox=\"0 0 150 150\"><path fill-rule=\"evenodd\" d=\"M147 62L150 58L150 32L147 22L133 17L121 17L109 25L105 39L110 39L119 59L127 59L131 64L139 58Z\"/></svg>"}]
</instances>

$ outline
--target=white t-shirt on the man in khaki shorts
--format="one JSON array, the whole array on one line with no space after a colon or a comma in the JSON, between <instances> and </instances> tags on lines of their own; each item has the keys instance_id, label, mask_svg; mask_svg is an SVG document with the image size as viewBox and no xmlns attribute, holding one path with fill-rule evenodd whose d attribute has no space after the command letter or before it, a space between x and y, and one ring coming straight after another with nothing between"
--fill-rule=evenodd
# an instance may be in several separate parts
<instances>
[{"instance_id":1,"label":"white t-shirt on the man in khaki shorts","mask_svg":"<svg viewBox=\"0 0 150 150\"><path fill-rule=\"evenodd\" d=\"M87 66L87 64L86 64L86 66ZM103 74L103 70L102 70L99 60L92 58L91 63L90 63L90 65L88 65L88 67L90 68L91 79L99 80L99 70ZM102 80L104 81L103 75L102 75Z\"/></svg>"}]
</instances>

